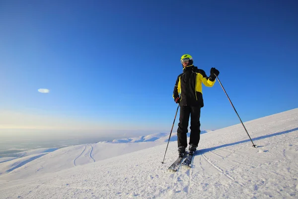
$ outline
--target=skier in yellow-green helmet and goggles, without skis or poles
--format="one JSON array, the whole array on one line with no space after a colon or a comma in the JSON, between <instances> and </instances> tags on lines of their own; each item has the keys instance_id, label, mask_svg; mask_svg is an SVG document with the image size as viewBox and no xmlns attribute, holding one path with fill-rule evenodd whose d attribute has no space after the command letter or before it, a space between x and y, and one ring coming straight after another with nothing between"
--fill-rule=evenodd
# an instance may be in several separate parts
<instances>
[{"instance_id":1,"label":"skier in yellow-green helmet and goggles, without skis or poles","mask_svg":"<svg viewBox=\"0 0 298 199\"><path fill-rule=\"evenodd\" d=\"M204 106L202 83L206 87L213 87L216 76L218 76L220 72L215 68L211 68L210 76L207 77L203 70L193 65L193 58L188 54L182 55L180 61L183 66L183 73L180 74L176 80L173 98L175 102L180 105L177 136L179 157L183 157L185 148L187 147L186 133L188 132L189 116L191 118L188 149L190 154L193 154L197 150L200 141L200 113L201 107Z\"/></svg>"}]
</instances>

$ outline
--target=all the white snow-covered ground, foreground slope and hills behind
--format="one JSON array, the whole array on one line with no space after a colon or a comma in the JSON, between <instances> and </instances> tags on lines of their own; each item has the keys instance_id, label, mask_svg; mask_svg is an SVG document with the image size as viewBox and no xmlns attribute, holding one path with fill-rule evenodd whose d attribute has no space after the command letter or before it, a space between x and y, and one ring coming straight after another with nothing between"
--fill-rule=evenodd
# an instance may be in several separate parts
<instances>
[{"instance_id":1,"label":"all the white snow-covered ground, foreground slope and hills behind","mask_svg":"<svg viewBox=\"0 0 298 199\"><path fill-rule=\"evenodd\" d=\"M0 198L297 199L298 108L244 124L257 148L241 124L209 131L175 173L162 133L28 153L0 163Z\"/></svg>"}]
</instances>

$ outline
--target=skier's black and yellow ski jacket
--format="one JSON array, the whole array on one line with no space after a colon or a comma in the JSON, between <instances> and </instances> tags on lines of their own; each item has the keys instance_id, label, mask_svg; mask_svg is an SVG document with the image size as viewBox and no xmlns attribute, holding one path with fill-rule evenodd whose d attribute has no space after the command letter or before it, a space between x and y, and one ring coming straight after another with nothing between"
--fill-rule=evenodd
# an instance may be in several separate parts
<instances>
[{"instance_id":1,"label":"skier's black and yellow ski jacket","mask_svg":"<svg viewBox=\"0 0 298 199\"><path fill-rule=\"evenodd\" d=\"M205 71L191 65L183 68L183 73L178 75L174 87L173 98L180 96L180 106L204 106L202 83L206 87L213 87L216 80L211 81Z\"/></svg>"}]
</instances>

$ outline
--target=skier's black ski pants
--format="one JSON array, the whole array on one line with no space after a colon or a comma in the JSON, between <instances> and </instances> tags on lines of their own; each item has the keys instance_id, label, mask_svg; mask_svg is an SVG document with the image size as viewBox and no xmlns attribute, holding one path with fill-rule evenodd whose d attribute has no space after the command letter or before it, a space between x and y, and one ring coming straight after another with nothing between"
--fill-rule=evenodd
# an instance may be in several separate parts
<instances>
[{"instance_id":1,"label":"skier's black ski pants","mask_svg":"<svg viewBox=\"0 0 298 199\"><path fill-rule=\"evenodd\" d=\"M189 144L198 146L200 141L200 115L201 106L180 106L180 118L177 129L178 147L187 147L188 122L190 116L190 139Z\"/></svg>"}]
</instances>

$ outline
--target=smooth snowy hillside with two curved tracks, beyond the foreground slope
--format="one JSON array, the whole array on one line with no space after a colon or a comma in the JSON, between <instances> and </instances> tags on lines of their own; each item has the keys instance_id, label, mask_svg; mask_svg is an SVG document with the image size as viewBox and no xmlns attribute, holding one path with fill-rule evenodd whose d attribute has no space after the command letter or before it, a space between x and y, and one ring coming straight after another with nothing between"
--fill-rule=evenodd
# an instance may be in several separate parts
<instances>
[{"instance_id":1,"label":"smooth snowy hillside with two curved tracks, beyond the foreground slope","mask_svg":"<svg viewBox=\"0 0 298 199\"><path fill-rule=\"evenodd\" d=\"M82 144L0 163L0 180L18 180L160 145L160 142ZM38 159L37 159L38 158Z\"/></svg>"}]
</instances>

